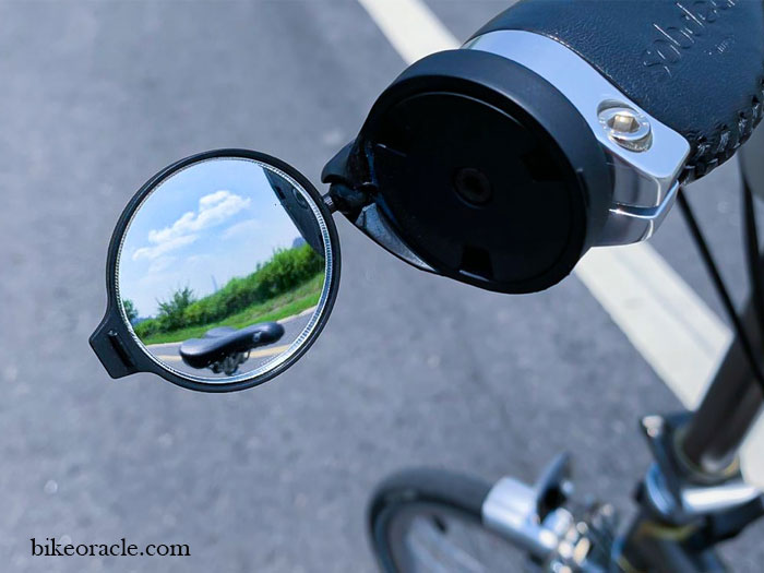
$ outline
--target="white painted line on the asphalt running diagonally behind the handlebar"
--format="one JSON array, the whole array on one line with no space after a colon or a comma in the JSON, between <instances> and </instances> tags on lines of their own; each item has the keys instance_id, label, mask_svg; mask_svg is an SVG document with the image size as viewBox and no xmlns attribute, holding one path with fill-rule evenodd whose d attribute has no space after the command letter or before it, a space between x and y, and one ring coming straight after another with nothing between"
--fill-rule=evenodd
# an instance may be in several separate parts
<instances>
[{"instance_id":1,"label":"white painted line on the asphalt running diagonally behind the handlebar","mask_svg":"<svg viewBox=\"0 0 764 573\"><path fill-rule=\"evenodd\" d=\"M421 0L358 2L406 63L459 46ZM727 325L647 243L593 249L575 274L682 404L696 406L731 341ZM760 487L762 450L764 420L742 452L747 478Z\"/></svg>"}]
</instances>

